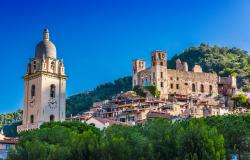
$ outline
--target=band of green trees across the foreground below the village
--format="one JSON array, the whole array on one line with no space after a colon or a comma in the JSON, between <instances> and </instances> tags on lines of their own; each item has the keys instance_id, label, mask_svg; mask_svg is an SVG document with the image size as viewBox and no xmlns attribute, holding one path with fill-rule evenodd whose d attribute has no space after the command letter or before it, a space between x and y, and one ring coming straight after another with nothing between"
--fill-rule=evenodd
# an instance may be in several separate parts
<instances>
[{"instance_id":1,"label":"band of green trees across the foreground below the village","mask_svg":"<svg viewBox=\"0 0 250 160\"><path fill-rule=\"evenodd\" d=\"M20 134L15 160L225 159L249 152L250 116L148 120L103 131L80 122L45 123Z\"/></svg>"}]
</instances>

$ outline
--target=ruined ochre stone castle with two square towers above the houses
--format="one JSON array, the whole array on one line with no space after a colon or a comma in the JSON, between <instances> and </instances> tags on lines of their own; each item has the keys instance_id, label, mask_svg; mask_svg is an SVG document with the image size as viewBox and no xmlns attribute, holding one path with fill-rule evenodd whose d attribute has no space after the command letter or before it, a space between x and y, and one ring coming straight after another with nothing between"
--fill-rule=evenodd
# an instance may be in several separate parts
<instances>
[{"instance_id":1,"label":"ruined ochre stone castle with two square towers above the houses","mask_svg":"<svg viewBox=\"0 0 250 160\"><path fill-rule=\"evenodd\" d=\"M155 85L161 98L169 95L233 95L237 89L235 77L219 77L204 73L199 65L189 71L188 64L176 60L176 69L167 68L167 54L164 51L151 53L151 66L146 68L142 59L133 61L133 87Z\"/></svg>"}]
</instances>

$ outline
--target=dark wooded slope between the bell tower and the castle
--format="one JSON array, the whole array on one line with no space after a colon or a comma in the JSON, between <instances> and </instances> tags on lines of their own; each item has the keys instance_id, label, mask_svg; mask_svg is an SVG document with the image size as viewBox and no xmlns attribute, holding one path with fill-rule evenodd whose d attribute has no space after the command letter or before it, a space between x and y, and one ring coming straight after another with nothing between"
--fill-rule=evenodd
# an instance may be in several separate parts
<instances>
[{"instance_id":1,"label":"dark wooded slope between the bell tower and the castle","mask_svg":"<svg viewBox=\"0 0 250 160\"><path fill-rule=\"evenodd\" d=\"M132 89L132 78L123 77L114 83L105 83L97 86L93 91L70 96L66 100L66 116L76 115L88 111L94 102L110 99L120 92Z\"/></svg>"}]
</instances>

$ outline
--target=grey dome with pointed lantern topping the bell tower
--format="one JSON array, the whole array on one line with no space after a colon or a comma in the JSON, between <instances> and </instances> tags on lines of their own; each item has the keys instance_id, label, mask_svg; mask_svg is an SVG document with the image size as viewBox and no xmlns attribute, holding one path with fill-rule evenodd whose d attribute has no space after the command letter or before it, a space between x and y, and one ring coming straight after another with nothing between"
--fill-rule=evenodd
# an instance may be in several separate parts
<instances>
[{"instance_id":1,"label":"grey dome with pointed lantern topping the bell tower","mask_svg":"<svg viewBox=\"0 0 250 160\"><path fill-rule=\"evenodd\" d=\"M46 28L43 31L43 40L36 45L36 58L45 57L56 58L56 47L49 40L49 30Z\"/></svg>"}]
</instances>

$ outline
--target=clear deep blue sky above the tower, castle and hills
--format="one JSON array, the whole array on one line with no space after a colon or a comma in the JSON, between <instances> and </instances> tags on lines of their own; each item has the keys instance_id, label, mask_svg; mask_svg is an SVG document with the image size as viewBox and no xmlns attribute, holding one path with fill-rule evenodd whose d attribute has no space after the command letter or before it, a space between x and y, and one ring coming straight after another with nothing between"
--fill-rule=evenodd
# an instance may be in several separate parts
<instances>
[{"instance_id":1,"label":"clear deep blue sky above the tower, castle and hills","mask_svg":"<svg viewBox=\"0 0 250 160\"><path fill-rule=\"evenodd\" d=\"M67 95L131 75L131 61L201 42L250 51L249 0L0 1L0 113L23 107L29 58L45 27L64 59Z\"/></svg>"}]
</instances>

